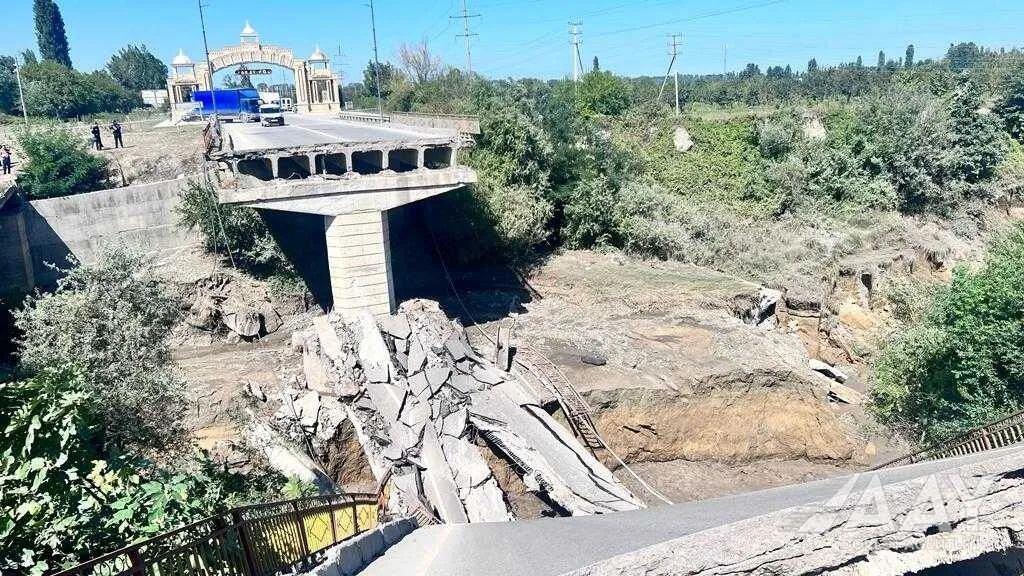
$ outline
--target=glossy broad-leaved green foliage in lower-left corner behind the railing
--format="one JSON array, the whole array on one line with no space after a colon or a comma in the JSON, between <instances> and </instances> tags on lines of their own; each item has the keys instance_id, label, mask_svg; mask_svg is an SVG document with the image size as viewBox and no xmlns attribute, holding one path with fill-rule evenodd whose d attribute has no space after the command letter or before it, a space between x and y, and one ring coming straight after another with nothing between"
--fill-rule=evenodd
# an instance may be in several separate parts
<instances>
[{"instance_id":1,"label":"glossy broad-leaved green foliage in lower-left corner behind the railing","mask_svg":"<svg viewBox=\"0 0 1024 576\"><path fill-rule=\"evenodd\" d=\"M166 469L105 450L95 385L69 369L0 381L0 571L70 568L278 491L200 454ZM180 460L179 460L180 461Z\"/></svg>"}]
</instances>

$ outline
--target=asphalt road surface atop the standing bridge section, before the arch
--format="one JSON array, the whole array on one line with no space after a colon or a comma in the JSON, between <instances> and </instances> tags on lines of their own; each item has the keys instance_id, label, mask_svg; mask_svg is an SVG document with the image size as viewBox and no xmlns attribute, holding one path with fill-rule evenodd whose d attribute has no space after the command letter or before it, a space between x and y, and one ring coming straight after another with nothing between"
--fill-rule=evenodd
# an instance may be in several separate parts
<instances>
[{"instance_id":1,"label":"asphalt road surface atop the standing bridge section, before the arch","mask_svg":"<svg viewBox=\"0 0 1024 576\"><path fill-rule=\"evenodd\" d=\"M263 126L259 122L224 122L236 152L267 148L290 148L336 142L379 142L437 138L436 133L394 124L347 122L323 116L286 114L284 126Z\"/></svg>"}]
</instances>

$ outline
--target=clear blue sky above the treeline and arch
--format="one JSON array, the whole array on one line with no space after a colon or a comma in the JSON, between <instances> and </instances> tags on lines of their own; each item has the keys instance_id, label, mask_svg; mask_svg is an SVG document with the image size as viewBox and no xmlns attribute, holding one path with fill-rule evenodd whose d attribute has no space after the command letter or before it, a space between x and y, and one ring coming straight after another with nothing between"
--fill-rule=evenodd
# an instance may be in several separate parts
<instances>
[{"instance_id":1,"label":"clear blue sky above the treeline and arch","mask_svg":"<svg viewBox=\"0 0 1024 576\"><path fill-rule=\"evenodd\" d=\"M341 43L346 83L371 57L367 0L205 0L210 47L238 42L248 18L264 43L306 57L319 44L333 54ZM193 0L57 0L79 70L101 68L127 43L144 43L170 60L178 48L194 59L203 52ZM465 66L461 20L451 15L462 0L376 0L382 59L394 59L402 42L426 38L446 63ZM583 59L626 75L663 74L669 33L683 35L680 70L719 72L723 46L728 68L748 61L762 68L803 69L880 49L902 55L908 43L919 59L941 55L950 42L1024 47L1021 0L468 0L473 66L489 77L561 77L570 73L567 23L583 20ZM0 15L0 53L36 48L32 0L9 0Z\"/></svg>"}]
</instances>

